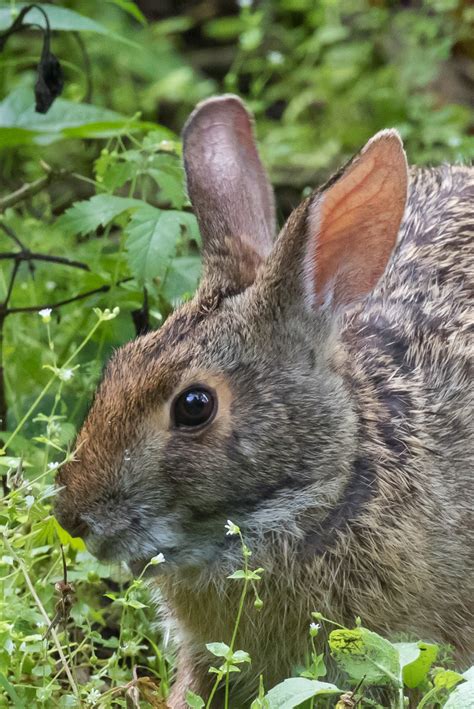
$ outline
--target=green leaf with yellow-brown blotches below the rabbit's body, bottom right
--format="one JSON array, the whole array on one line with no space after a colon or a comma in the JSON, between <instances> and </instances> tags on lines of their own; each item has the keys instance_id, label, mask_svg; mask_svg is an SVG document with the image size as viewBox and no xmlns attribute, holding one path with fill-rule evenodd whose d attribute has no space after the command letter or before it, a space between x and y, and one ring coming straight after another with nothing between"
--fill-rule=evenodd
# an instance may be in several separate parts
<instances>
[{"instance_id":1,"label":"green leaf with yellow-brown blotches below the rabbit's body, bottom right","mask_svg":"<svg viewBox=\"0 0 474 709\"><path fill-rule=\"evenodd\" d=\"M356 682L399 684L400 660L388 640L366 628L333 630L329 636L331 655Z\"/></svg>"}]
</instances>

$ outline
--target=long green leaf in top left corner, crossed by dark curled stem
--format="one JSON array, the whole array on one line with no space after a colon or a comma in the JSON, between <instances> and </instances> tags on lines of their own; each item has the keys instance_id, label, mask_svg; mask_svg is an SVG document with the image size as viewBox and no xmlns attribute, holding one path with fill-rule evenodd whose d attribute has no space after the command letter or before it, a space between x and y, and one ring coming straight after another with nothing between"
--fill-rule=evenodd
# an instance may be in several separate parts
<instances>
[{"instance_id":1,"label":"long green leaf in top left corner, crossed by dark curled stem","mask_svg":"<svg viewBox=\"0 0 474 709\"><path fill-rule=\"evenodd\" d=\"M0 31L5 30L14 21L14 19L19 14L20 10L26 7L28 3L19 2L16 4L15 10L12 11L11 7L5 7L4 3L0 5ZM124 37L111 32L107 27L101 25L95 20L91 20L90 17L85 17L79 12L74 10L69 10L66 7L57 7L49 3L37 3L38 7L41 7L48 16L49 25L52 30L62 30L66 32L96 32L97 34L104 34L114 39L121 40L127 44L134 44ZM39 25L40 27L45 27L46 22L42 12L36 8L30 10L25 17L25 22L32 25Z\"/></svg>"}]
</instances>

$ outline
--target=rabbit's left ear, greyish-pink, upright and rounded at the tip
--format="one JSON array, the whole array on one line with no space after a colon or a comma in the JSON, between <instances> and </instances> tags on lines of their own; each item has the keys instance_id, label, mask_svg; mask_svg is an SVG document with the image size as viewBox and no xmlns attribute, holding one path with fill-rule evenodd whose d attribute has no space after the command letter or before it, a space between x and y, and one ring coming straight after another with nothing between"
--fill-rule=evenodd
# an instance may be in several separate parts
<instances>
[{"instance_id":1,"label":"rabbit's left ear, greyish-pink, upright and rounded at the tip","mask_svg":"<svg viewBox=\"0 0 474 709\"><path fill-rule=\"evenodd\" d=\"M183 153L205 276L242 290L272 248L275 207L240 99L226 95L201 103L185 125Z\"/></svg>"}]
</instances>

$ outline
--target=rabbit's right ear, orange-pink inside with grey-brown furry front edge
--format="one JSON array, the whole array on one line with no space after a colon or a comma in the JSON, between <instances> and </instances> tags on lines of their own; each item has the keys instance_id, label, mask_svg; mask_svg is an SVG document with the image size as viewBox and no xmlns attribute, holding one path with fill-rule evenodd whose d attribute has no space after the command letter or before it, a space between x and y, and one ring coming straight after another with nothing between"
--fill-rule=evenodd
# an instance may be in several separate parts
<instances>
[{"instance_id":1,"label":"rabbit's right ear, orange-pink inside with grey-brown furry front edge","mask_svg":"<svg viewBox=\"0 0 474 709\"><path fill-rule=\"evenodd\" d=\"M290 216L267 275L312 307L350 305L382 276L405 210L408 168L395 130L361 152ZM268 281L267 281L268 282Z\"/></svg>"}]
</instances>

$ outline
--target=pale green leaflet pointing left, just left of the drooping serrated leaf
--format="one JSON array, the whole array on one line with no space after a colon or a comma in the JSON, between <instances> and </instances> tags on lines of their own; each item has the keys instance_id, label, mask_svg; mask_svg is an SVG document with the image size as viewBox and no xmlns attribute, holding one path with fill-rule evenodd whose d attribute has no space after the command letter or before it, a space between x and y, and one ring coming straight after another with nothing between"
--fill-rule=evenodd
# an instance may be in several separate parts
<instances>
[{"instance_id":1,"label":"pale green leaflet pointing left, just left of the drooping serrated leaf","mask_svg":"<svg viewBox=\"0 0 474 709\"><path fill-rule=\"evenodd\" d=\"M76 202L57 220L56 225L65 234L89 234L99 226L105 226L127 211L143 207L140 199L98 194L82 202Z\"/></svg>"}]
</instances>

